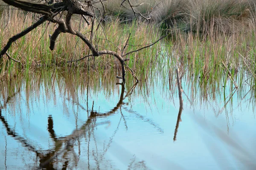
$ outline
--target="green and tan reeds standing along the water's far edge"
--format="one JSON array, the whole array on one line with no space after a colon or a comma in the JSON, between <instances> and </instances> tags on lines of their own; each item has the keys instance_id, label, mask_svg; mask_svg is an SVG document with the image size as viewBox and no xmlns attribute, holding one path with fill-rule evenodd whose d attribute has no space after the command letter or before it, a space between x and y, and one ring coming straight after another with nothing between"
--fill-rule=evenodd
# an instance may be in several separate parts
<instances>
[{"instance_id":1,"label":"green and tan reeds standing along the water's far edge","mask_svg":"<svg viewBox=\"0 0 256 170\"><path fill-rule=\"evenodd\" d=\"M244 86L250 86L255 91L256 50L254 49L254 45L256 37L255 25L253 20L250 20L254 11L251 10L253 6L250 6L250 9L248 8L251 4L249 1L235 3L235 0L230 0L222 5L225 7L222 7L218 1L207 0L204 3L193 1L193 3L198 3L200 6L197 7L197 10L190 10L189 19L184 15L184 10L189 7L192 8L193 4L189 4L186 0L163 2L166 2L165 6L162 3L158 4L156 1L152 1L150 6L153 6L154 8L152 7L152 10L156 11L148 10L150 3L141 6L145 11L148 11L148 14L150 13L154 16L154 21L162 20L162 22L157 22L159 24L153 22L140 23L138 25L134 20L124 24L122 22L122 16L118 15L117 12L116 19L112 20L111 24L105 24L105 26L98 30L96 36L98 49L109 49L120 53L121 48L125 45L131 33L126 51L136 50L141 47L140 45L146 45L157 40L163 34L163 31L161 31L163 22L166 22L164 25L168 26L169 21L172 20L173 25L168 26L169 30L172 30L169 38L158 42L150 48L145 48L142 51L127 56L130 58L127 61L127 65L135 71L140 80L154 81L161 77L165 80L169 79L175 82L175 68L179 66L181 75L183 75L183 81L186 80L191 87L199 84L204 91L208 91L209 93L219 91L223 87L230 88L230 91L233 91L233 88L238 88L238 92L240 93L244 89ZM187 6L183 6L182 4L186 4ZM114 6L114 3L109 3L109 5ZM215 5L214 8L212 8L213 5ZM167 8L168 6L174 7L169 9ZM233 7L228 8L228 6ZM174 9L176 11L173 11ZM182 11L181 9L183 12L180 12ZM234 16L239 10L240 13ZM186 15L188 11L186 11ZM245 11L250 12L250 16L248 15L246 17ZM24 15L19 11L11 12L12 15L7 26L6 17L1 18L0 28L2 31L0 32L0 44L2 46L8 41L9 37L17 34L34 22L32 15ZM192 12L193 17L191 17ZM215 17L217 13L219 15ZM167 16L169 16L169 19ZM175 17L172 18L171 16ZM24 21L24 23L17 26L16 23L20 20ZM184 33L184 29L180 29L181 25L178 23L184 24L186 20L190 22L186 24L188 27L190 26L192 28L192 26L195 26L193 28L194 30L206 34L201 34L197 31L194 32L192 29ZM199 20L204 22L202 25L205 28L201 27ZM223 24L215 24L224 23L227 20L233 23L229 26L229 30L233 31L227 31L228 29L224 28ZM206 22L210 24L206 25ZM238 23L236 22L240 22L240 28L237 28ZM6 28L3 29L5 26ZM84 23L80 24L79 21L74 19L73 27L89 36L87 32L89 32L90 26ZM20 60L21 64L15 63L7 58L1 59L1 79L3 80L5 76L17 76L20 70L25 70L29 73L31 69L35 68L63 68L71 71L79 69L81 73L87 72L89 68L89 70L95 71L97 74L103 76L113 74L111 72L112 70L118 76L121 74L119 62L108 55L67 63L67 61L80 59L87 55L88 48L76 37L70 34L61 34L58 37L55 50L50 51L48 47L49 34L53 33L54 28L55 26L53 24L48 25L45 23L25 37L17 40L16 43L13 43L9 53L13 58ZM128 72L126 79L128 83L133 83L133 77ZM164 83L167 86L167 83ZM206 97L203 96L202 98L206 99Z\"/></svg>"}]
</instances>

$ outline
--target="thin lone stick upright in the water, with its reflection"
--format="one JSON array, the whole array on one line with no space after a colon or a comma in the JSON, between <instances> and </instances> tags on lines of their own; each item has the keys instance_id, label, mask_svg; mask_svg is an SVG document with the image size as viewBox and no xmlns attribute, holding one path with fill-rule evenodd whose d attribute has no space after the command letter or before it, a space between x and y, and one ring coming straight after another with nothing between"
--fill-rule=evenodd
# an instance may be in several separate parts
<instances>
[{"instance_id":1,"label":"thin lone stick upright in the water, with its reflection","mask_svg":"<svg viewBox=\"0 0 256 170\"><path fill-rule=\"evenodd\" d=\"M180 99L180 109L179 109L179 113L178 113L178 117L177 117L177 123L176 123L176 127L175 127L173 141L176 141L176 136L177 136L179 124L181 122L181 113L182 113L182 110L183 110L183 99L182 99L182 91L183 90L182 90L181 85L180 85L180 71L179 71L179 68L176 69L176 76L177 76L177 84L178 84L179 99Z\"/></svg>"}]
</instances>

